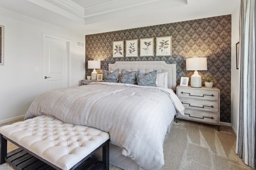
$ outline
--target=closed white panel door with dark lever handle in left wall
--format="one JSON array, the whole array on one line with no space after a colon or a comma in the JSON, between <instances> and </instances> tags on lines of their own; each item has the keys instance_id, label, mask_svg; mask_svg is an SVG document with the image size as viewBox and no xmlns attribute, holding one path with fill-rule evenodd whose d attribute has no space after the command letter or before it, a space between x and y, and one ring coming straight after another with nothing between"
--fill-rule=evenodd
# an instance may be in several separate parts
<instances>
[{"instance_id":1,"label":"closed white panel door with dark lever handle in left wall","mask_svg":"<svg viewBox=\"0 0 256 170\"><path fill-rule=\"evenodd\" d=\"M43 35L43 92L68 87L68 51L66 39Z\"/></svg>"}]
</instances>

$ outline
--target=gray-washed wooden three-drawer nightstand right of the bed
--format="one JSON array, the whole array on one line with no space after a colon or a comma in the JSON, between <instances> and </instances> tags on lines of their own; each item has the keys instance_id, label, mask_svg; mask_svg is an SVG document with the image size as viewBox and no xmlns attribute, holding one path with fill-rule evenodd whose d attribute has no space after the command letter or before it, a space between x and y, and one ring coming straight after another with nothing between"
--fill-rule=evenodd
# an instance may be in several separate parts
<instances>
[{"instance_id":1,"label":"gray-washed wooden three-drawer nightstand right of the bed","mask_svg":"<svg viewBox=\"0 0 256 170\"><path fill-rule=\"evenodd\" d=\"M178 113L176 116L178 119L217 125L220 131L220 90L218 88L177 86L176 94L185 107L185 115Z\"/></svg>"}]
</instances>

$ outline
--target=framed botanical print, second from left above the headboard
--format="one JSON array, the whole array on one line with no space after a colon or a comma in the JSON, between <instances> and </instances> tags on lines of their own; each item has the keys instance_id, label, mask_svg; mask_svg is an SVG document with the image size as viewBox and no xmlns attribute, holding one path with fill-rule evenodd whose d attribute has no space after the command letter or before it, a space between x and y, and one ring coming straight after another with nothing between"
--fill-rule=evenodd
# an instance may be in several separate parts
<instances>
[{"instance_id":1,"label":"framed botanical print, second from left above the headboard","mask_svg":"<svg viewBox=\"0 0 256 170\"><path fill-rule=\"evenodd\" d=\"M138 57L138 39L125 41L125 57Z\"/></svg>"}]
</instances>

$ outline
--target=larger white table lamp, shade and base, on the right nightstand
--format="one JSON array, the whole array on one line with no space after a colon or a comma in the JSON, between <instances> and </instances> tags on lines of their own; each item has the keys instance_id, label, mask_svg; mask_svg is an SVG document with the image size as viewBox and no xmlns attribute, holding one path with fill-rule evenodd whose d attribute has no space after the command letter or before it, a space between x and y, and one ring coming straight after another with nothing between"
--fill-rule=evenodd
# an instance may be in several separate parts
<instances>
[{"instance_id":1,"label":"larger white table lamp, shade and base, on the right nightstand","mask_svg":"<svg viewBox=\"0 0 256 170\"><path fill-rule=\"evenodd\" d=\"M190 78L190 86L195 88L202 87L202 79L197 70L207 70L206 57L193 57L186 59L186 70L195 70Z\"/></svg>"}]
</instances>

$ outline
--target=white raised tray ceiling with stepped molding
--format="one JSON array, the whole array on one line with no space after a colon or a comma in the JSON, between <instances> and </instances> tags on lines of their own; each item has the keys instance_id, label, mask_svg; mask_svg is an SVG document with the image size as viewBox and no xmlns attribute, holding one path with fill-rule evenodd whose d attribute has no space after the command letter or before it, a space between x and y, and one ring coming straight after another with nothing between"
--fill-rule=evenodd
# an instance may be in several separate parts
<instances>
[{"instance_id":1,"label":"white raised tray ceiling with stepped molding","mask_svg":"<svg viewBox=\"0 0 256 170\"><path fill-rule=\"evenodd\" d=\"M239 0L0 0L0 7L84 35L232 14Z\"/></svg>"}]
</instances>

